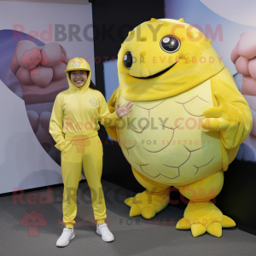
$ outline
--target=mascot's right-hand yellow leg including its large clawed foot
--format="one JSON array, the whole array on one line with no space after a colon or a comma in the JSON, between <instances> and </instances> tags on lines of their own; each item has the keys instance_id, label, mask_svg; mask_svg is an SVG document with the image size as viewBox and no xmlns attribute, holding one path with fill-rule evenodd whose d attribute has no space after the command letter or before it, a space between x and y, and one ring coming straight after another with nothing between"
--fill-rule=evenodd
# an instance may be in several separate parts
<instances>
[{"instance_id":1,"label":"mascot's right-hand yellow leg including its large clawed foot","mask_svg":"<svg viewBox=\"0 0 256 256\"><path fill-rule=\"evenodd\" d=\"M184 218L176 225L177 230L190 230L194 237L208 232L212 236L222 236L222 228L236 226L231 218L223 215L211 199L219 194L224 183L223 170L196 183L178 186L180 193L188 198L189 204Z\"/></svg>"}]
</instances>

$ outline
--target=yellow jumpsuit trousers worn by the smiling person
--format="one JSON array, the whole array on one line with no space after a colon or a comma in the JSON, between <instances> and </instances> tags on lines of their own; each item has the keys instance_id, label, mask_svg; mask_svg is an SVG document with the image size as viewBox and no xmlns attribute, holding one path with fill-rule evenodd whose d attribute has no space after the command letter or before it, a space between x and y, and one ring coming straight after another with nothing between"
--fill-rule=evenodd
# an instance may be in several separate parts
<instances>
[{"instance_id":1,"label":"yellow jumpsuit trousers worn by the smiling person","mask_svg":"<svg viewBox=\"0 0 256 256\"><path fill-rule=\"evenodd\" d=\"M82 138L82 139L81 139ZM95 137L74 136L66 138L61 151L61 172L64 183L62 210L63 223L72 228L77 215L77 191L81 180L82 166L90 187L92 207L97 224L104 223L106 205L102 190L102 142Z\"/></svg>"}]
</instances>

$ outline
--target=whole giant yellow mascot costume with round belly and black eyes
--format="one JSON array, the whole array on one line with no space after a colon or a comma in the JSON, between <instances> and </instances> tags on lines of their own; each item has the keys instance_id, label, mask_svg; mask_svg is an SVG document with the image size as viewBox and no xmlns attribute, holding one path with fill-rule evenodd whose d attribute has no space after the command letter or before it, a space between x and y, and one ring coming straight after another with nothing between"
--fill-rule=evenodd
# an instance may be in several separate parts
<instances>
[{"instance_id":1,"label":"whole giant yellow mascot costume with round belly and black eyes","mask_svg":"<svg viewBox=\"0 0 256 256\"><path fill-rule=\"evenodd\" d=\"M106 129L146 189L125 200L130 216L153 218L174 186L189 199L177 230L222 236L236 224L211 199L252 129L252 113L211 40L183 19L151 19L129 32L118 73L108 108L131 101L133 113Z\"/></svg>"}]
</instances>

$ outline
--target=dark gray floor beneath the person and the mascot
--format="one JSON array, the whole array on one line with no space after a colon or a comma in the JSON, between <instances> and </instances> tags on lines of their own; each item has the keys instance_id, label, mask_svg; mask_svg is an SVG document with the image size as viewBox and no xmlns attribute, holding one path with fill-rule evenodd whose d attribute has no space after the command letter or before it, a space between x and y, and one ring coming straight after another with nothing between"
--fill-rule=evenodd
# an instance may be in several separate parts
<instances>
[{"instance_id":1,"label":"dark gray floor beneath the person and the mascot","mask_svg":"<svg viewBox=\"0 0 256 256\"><path fill-rule=\"evenodd\" d=\"M64 227L58 223L62 218L62 187L51 189L50 204L39 201L29 204L27 201L27 195L39 197L46 193L46 189L25 193L22 203L17 201L15 204L13 195L0 197L0 255L256 255L256 236L238 229L225 229L221 238L209 234L194 238L190 230L176 230L173 223L183 217L183 211L171 205L157 214L151 223L141 216L129 218L130 207L123 201L134 193L105 181L102 186L108 226L115 241L104 242L96 234L96 226L91 223L94 217L90 191L83 182L79 184L78 192L80 224L75 227L76 237L63 248L55 246ZM38 236L29 236L28 226L20 224L24 214L32 211L43 213L47 220L47 224L40 227Z\"/></svg>"}]
</instances>

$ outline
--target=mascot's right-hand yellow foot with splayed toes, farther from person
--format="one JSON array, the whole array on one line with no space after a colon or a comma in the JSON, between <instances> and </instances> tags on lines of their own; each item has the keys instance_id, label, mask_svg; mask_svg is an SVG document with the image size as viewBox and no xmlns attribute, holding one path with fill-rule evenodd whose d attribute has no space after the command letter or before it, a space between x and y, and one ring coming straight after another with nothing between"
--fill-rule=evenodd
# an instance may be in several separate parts
<instances>
[{"instance_id":1,"label":"mascot's right-hand yellow foot with splayed toes, farther from person","mask_svg":"<svg viewBox=\"0 0 256 256\"><path fill-rule=\"evenodd\" d=\"M222 228L235 227L233 219L220 212L212 201L192 202L184 212L184 218L176 225L177 230L191 230L192 236L201 236L206 232L212 236L222 236Z\"/></svg>"}]
</instances>

